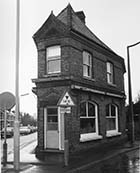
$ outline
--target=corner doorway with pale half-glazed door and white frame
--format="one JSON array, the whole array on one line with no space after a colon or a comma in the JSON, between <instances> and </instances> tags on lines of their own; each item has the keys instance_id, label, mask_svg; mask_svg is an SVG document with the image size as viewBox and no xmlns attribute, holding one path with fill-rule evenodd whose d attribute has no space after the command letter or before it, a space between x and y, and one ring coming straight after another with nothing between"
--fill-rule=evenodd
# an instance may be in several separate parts
<instances>
[{"instance_id":1,"label":"corner doorway with pale half-glazed door and white frame","mask_svg":"<svg viewBox=\"0 0 140 173\"><path fill-rule=\"evenodd\" d=\"M64 150L64 111L61 107L44 109L45 149Z\"/></svg>"}]
</instances>

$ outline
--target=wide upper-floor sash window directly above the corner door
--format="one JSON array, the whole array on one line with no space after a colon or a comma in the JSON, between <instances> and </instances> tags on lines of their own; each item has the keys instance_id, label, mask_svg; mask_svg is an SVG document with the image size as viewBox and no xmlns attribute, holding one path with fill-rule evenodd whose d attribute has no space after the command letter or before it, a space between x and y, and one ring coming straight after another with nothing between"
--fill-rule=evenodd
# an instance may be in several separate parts
<instances>
[{"instance_id":1,"label":"wide upper-floor sash window directly above the corner door","mask_svg":"<svg viewBox=\"0 0 140 173\"><path fill-rule=\"evenodd\" d=\"M46 50L47 74L61 72L61 48L60 46L48 47Z\"/></svg>"}]
</instances>

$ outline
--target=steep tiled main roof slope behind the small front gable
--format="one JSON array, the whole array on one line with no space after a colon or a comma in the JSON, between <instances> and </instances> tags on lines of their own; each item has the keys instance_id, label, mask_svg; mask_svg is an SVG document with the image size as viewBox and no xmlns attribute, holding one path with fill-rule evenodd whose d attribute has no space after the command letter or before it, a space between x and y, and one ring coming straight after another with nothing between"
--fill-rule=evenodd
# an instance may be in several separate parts
<instances>
[{"instance_id":1,"label":"steep tiled main roof slope behind the small front gable","mask_svg":"<svg viewBox=\"0 0 140 173\"><path fill-rule=\"evenodd\" d=\"M70 4L68 4L68 6L58 14L57 19L59 19L64 24L69 25L71 29L79 32L80 34L84 35L85 37L99 44L100 46L112 51L95 34L90 31L90 29L85 25L85 23L80 20L80 18L76 15Z\"/></svg>"}]
</instances>

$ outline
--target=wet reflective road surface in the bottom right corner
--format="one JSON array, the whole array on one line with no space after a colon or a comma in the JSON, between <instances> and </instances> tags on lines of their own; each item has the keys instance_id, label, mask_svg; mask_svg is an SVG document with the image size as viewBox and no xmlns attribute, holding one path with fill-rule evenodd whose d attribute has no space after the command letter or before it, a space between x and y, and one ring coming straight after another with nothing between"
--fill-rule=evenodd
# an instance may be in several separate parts
<instances>
[{"instance_id":1,"label":"wet reflective road surface in the bottom right corner","mask_svg":"<svg viewBox=\"0 0 140 173\"><path fill-rule=\"evenodd\" d=\"M83 171L85 173L140 173L140 149L120 154Z\"/></svg>"}]
</instances>

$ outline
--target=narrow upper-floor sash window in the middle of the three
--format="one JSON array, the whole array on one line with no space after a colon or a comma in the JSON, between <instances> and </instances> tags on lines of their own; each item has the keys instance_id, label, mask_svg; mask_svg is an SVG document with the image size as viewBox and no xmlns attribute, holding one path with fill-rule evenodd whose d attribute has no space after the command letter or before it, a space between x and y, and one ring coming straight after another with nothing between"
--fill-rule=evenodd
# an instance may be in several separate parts
<instances>
[{"instance_id":1,"label":"narrow upper-floor sash window in the middle of the three","mask_svg":"<svg viewBox=\"0 0 140 173\"><path fill-rule=\"evenodd\" d=\"M83 76L92 77L92 56L88 52L83 52Z\"/></svg>"}]
</instances>

